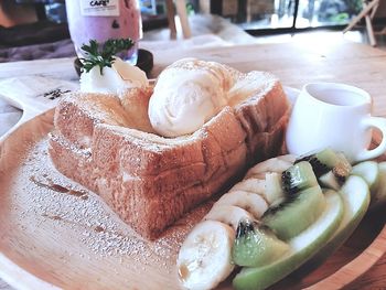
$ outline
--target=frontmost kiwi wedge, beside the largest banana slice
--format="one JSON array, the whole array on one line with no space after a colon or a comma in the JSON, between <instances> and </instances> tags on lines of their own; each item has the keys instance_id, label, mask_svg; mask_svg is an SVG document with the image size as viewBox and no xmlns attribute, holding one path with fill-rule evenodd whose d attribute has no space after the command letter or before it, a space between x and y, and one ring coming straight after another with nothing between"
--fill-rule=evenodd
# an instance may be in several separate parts
<instances>
[{"instance_id":1,"label":"frontmost kiwi wedge, beside the largest banana slice","mask_svg":"<svg viewBox=\"0 0 386 290\"><path fill-rule=\"evenodd\" d=\"M269 228L243 219L237 227L232 257L238 266L259 267L279 259L289 249L289 245L278 239Z\"/></svg>"}]
</instances>

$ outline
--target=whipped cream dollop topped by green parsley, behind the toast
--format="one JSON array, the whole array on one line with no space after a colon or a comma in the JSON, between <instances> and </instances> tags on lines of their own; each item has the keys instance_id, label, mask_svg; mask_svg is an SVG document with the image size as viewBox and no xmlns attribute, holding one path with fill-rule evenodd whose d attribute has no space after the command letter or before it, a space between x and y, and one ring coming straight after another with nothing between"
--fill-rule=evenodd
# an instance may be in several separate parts
<instances>
[{"instance_id":1,"label":"whipped cream dollop topped by green parsley, behind the toast","mask_svg":"<svg viewBox=\"0 0 386 290\"><path fill-rule=\"evenodd\" d=\"M115 57L111 67L94 66L81 75L81 90L86 93L120 94L128 88L147 86L149 80L143 71L119 57Z\"/></svg>"}]
</instances>

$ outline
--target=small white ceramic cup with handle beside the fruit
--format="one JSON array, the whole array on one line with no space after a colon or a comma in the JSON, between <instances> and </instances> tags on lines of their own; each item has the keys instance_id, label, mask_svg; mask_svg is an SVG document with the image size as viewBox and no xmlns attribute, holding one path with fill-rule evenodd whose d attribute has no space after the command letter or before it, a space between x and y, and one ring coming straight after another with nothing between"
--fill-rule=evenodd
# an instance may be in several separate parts
<instances>
[{"instance_id":1,"label":"small white ceramic cup with handle beside the fruit","mask_svg":"<svg viewBox=\"0 0 386 290\"><path fill-rule=\"evenodd\" d=\"M372 117L371 96L354 86L311 83L300 92L289 120L288 151L302 155L330 147L352 162L376 158L386 151L386 119ZM372 128L383 135L378 147L368 150Z\"/></svg>"}]
</instances>

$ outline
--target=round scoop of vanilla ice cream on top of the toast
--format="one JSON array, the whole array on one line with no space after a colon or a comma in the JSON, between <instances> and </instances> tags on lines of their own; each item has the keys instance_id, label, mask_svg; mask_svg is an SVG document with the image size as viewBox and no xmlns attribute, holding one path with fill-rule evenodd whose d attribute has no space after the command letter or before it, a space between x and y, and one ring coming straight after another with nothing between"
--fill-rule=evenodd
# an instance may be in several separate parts
<instances>
[{"instance_id":1,"label":"round scoop of vanilla ice cream on top of the toast","mask_svg":"<svg viewBox=\"0 0 386 290\"><path fill-rule=\"evenodd\" d=\"M225 67L181 60L159 76L149 101L149 119L164 137L192 133L227 104L230 86Z\"/></svg>"}]
</instances>

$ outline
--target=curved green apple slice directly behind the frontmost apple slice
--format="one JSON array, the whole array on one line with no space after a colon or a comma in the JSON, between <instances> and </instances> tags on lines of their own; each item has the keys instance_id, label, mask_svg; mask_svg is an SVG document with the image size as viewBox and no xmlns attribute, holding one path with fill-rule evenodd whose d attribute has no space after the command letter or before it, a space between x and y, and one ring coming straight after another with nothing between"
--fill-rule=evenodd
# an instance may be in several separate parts
<instances>
[{"instance_id":1,"label":"curved green apple slice directly behind the frontmost apple slice","mask_svg":"<svg viewBox=\"0 0 386 290\"><path fill-rule=\"evenodd\" d=\"M329 191L330 192L330 191ZM369 191L367 183L360 176L351 175L339 192L344 204L342 223L331 239L320 248L302 269L311 269L324 261L353 234L367 212Z\"/></svg>"}]
</instances>

